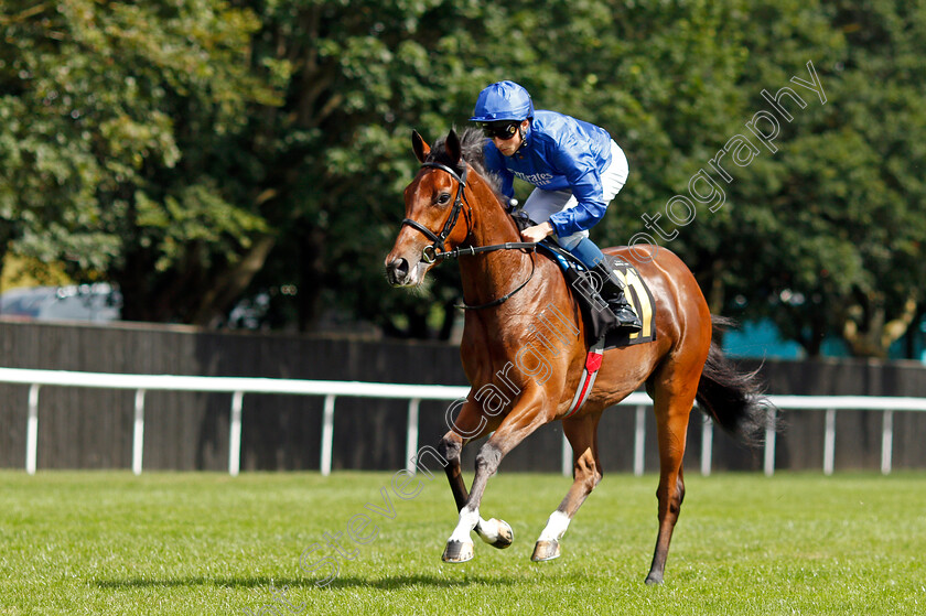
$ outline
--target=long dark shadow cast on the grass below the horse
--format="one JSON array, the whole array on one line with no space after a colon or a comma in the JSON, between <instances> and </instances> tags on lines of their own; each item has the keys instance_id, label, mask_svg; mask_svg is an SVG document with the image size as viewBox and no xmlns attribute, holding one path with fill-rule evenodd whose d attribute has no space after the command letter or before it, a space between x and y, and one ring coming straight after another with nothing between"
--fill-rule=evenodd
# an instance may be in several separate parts
<instances>
[{"instance_id":1,"label":"long dark shadow cast on the grass below the horse","mask_svg":"<svg viewBox=\"0 0 926 616\"><path fill-rule=\"evenodd\" d=\"M315 580L310 579L279 579L279 577L176 577L170 580L155 579L129 579L129 580L97 580L99 588L130 590L130 588L159 588L159 587L182 587L182 586L216 586L223 588L254 588L271 584L278 588L289 586L291 588L313 588L320 591L326 588L379 588L383 591L395 591L409 586L427 586L433 588L454 588L465 586L512 586L524 584L524 576L514 575L483 575L467 573L463 577L443 577L439 575L416 574L395 575L380 579L344 576L336 577L325 586L319 586Z\"/></svg>"}]
</instances>

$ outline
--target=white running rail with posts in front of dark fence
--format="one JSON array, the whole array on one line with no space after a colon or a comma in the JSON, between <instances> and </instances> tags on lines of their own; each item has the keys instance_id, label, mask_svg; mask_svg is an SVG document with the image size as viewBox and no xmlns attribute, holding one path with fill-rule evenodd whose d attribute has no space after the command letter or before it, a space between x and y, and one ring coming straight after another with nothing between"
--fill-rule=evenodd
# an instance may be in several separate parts
<instances>
[{"instance_id":1,"label":"white running rail with posts in front of dark fence","mask_svg":"<svg viewBox=\"0 0 926 616\"><path fill-rule=\"evenodd\" d=\"M26 420L25 471L35 474L39 451L39 391L43 386L89 387L134 390L134 429L132 432L132 472L141 474L144 440L144 393L152 390L201 391L232 393L229 423L228 473L238 475L241 455L241 409L246 393L284 393L324 397L322 413L321 472L331 473L334 435L334 403L338 397L380 398L408 400L406 458L413 469L418 452L418 414L421 400L459 400L465 398L469 387L441 385L397 385L357 381L320 381L297 379L269 379L243 377L190 377L172 375L115 375L103 372L74 372L58 370L26 370L0 368L0 382L28 385L29 409ZM893 456L893 424L895 411L926 411L926 398L872 397L872 396L769 396L769 401L782 410L821 410L826 412L823 432L823 473L831 475L836 452L836 413L842 410L876 410L883 412L881 439L881 472L891 473ZM644 473L644 443L646 440L646 409L652 401L643 392L631 393L621 406L635 407L634 420L634 474ZM768 409L764 472L775 472L775 430L772 420L775 410ZM572 451L563 439L562 473L572 474ZM704 419L701 428L701 473L710 475L713 451L713 425Z\"/></svg>"}]
</instances>

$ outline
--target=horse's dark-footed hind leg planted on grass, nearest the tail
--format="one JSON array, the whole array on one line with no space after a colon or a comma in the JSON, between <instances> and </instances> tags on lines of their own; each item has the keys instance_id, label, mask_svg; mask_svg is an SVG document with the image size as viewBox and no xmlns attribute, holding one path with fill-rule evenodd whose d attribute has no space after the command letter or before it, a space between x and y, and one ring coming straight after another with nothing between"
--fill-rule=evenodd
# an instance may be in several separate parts
<instances>
[{"instance_id":1,"label":"horse's dark-footed hind leg planted on grass, nearest the tail","mask_svg":"<svg viewBox=\"0 0 926 616\"><path fill-rule=\"evenodd\" d=\"M678 382L675 379L667 381ZM656 497L659 499L659 534L656 537L653 564L646 576L647 584L663 583L672 530L678 521L681 501L685 499L681 460L685 455L688 420L694 403L697 382L694 379L691 386L656 386L656 431L659 442L659 488L656 490Z\"/></svg>"}]
</instances>

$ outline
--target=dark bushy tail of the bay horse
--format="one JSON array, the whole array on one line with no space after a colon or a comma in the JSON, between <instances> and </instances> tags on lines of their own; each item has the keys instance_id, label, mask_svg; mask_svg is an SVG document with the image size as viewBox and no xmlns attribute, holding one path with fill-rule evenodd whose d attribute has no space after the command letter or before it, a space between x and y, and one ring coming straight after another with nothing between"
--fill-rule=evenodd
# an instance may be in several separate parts
<instances>
[{"instance_id":1,"label":"dark bushy tail of the bay horse","mask_svg":"<svg viewBox=\"0 0 926 616\"><path fill-rule=\"evenodd\" d=\"M731 320L711 315L714 331L732 323ZM766 410L771 408L763 396L757 374L758 370L740 371L723 355L717 342L711 342L697 395L704 413L724 431L750 445L760 445L764 441Z\"/></svg>"}]
</instances>

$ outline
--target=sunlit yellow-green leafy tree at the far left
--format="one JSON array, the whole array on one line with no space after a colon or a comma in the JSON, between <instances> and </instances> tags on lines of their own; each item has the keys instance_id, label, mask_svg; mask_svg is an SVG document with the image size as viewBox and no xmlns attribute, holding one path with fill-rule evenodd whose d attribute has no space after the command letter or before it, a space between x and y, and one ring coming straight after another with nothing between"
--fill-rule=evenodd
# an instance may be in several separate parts
<instances>
[{"instance_id":1,"label":"sunlit yellow-green leafy tree at the far left","mask_svg":"<svg viewBox=\"0 0 926 616\"><path fill-rule=\"evenodd\" d=\"M267 229L214 164L245 105L276 102L247 68L255 14L211 0L3 8L3 248L118 282L128 320L195 322Z\"/></svg>"}]
</instances>

